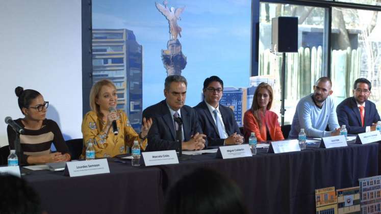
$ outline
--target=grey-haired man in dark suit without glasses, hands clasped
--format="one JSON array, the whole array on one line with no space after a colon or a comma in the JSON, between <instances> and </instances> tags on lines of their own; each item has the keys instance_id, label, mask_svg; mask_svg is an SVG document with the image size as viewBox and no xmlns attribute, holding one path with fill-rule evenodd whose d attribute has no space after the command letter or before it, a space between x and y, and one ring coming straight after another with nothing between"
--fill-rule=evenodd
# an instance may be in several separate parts
<instances>
[{"instance_id":1,"label":"grey-haired man in dark suit without glasses, hands clasped","mask_svg":"<svg viewBox=\"0 0 381 214\"><path fill-rule=\"evenodd\" d=\"M148 131L146 151L178 149L176 131L179 128L175 118L182 119L182 149L201 150L205 148L205 135L198 125L197 113L184 105L187 93L187 80L184 76L167 76L164 84L165 100L151 105L143 111L143 118L153 118Z\"/></svg>"}]
</instances>

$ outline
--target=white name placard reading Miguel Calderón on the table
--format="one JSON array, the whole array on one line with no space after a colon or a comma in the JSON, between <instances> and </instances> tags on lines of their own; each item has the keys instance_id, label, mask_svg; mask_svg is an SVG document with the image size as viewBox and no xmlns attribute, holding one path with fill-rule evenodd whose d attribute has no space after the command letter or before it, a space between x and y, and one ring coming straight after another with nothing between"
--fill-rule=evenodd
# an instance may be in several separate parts
<instances>
[{"instance_id":1,"label":"white name placard reading Miguel Calder\u00f3n on the table","mask_svg":"<svg viewBox=\"0 0 381 214\"><path fill-rule=\"evenodd\" d=\"M216 157L222 157L222 159L250 156L252 156L252 154L248 144L220 146L216 154Z\"/></svg>"}]
</instances>

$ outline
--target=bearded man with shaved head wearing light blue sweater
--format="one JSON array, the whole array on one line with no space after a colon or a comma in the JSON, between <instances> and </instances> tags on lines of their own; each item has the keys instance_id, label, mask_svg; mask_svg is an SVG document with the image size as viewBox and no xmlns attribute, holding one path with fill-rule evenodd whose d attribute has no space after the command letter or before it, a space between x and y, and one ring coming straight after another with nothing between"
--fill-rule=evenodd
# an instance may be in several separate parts
<instances>
[{"instance_id":1,"label":"bearded man with shaved head wearing light blue sweater","mask_svg":"<svg viewBox=\"0 0 381 214\"><path fill-rule=\"evenodd\" d=\"M289 138L297 138L300 128L307 137L322 138L340 135L334 100L329 96L332 82L328 77L320 77L314 86L314 93L299 100L292 120ZM329 131L325 128L329 127Z\"/></svg>"}]
</instances>

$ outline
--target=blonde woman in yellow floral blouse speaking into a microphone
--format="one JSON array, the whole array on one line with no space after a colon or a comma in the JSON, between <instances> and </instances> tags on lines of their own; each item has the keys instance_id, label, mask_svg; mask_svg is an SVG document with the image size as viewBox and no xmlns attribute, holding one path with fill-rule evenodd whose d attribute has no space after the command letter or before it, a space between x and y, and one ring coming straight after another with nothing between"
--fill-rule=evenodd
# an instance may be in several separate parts
<instances>
[{"instance_id":1,"label":"blonde woman in yellow floral blouse speaking into a microphone","mask_svg":"<svg viewBox=\"0 0 381 214\"><path fill-rule=\"evenodd\" d=\"M82 158L85 157L89 142L93 143L96 158L125 154L127 147L132 147L134 141L138 141L140 148L145 150L152 119L143 118L142 131L136 133L127 115L121 110L115 110L117 99L116 86L108 79L98 81L91 88L91 111L82 121L84 142ZM114 133L113 121L116 123L117 133Z\"/></svg>"}]
</instances>

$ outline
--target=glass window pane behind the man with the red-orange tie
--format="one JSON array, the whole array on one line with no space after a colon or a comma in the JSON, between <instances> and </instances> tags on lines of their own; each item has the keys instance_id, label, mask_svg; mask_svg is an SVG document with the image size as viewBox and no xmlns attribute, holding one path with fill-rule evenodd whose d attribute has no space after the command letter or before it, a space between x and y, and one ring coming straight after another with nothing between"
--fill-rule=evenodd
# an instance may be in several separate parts
<instances>
[{"instance_id":1,"label":"glass window pane behind the man with the red-orange tie","mask_svg":"<svg viewBox=\"0 0 381 214\"><path fill-rule=\"evenodd\" d=\"M364 77L372 84L369 99L380 108L381 14L347 8L332 12L333 95L337 102L353 96L355 79Z\"/></svg>"}]
</instances>

